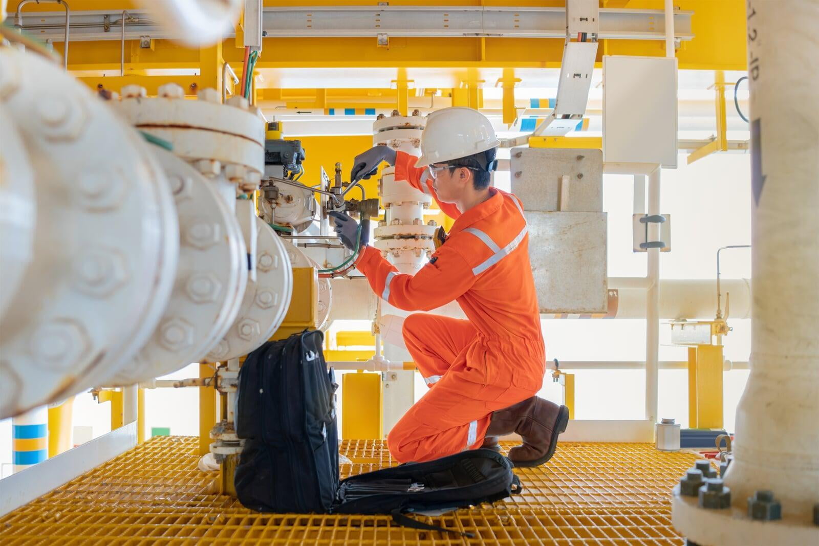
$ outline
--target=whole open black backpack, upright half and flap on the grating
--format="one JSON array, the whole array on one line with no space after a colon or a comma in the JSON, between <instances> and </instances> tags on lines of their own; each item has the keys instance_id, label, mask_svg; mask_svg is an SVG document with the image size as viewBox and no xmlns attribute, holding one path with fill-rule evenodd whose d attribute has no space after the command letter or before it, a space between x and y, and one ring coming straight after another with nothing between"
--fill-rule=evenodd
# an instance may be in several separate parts
<instances>
[{"instance_id":1,"label":"whole open black backpack, upright half and flap on the grating","mask_svg":"<svg viewBox=\"0 0 819 546\"><path fill-rule=\"evenodd\" d=\"M338 479L337 384L317 331L265 343L239 372L236 432L245 444L236 467L239 501L259 512L432 514L491 503L520 492L509 460L491 449L456 453Z\"/></svg>"}]
</instances>

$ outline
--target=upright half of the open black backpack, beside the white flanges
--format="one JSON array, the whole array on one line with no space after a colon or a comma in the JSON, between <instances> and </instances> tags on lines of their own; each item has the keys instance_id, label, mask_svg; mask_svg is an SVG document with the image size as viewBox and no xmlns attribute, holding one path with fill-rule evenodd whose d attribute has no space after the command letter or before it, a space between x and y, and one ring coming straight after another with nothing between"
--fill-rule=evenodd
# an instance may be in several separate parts
<instances>
[{"instance_id":1,"label":"upright half of the open black backpack, beside the white flanges","mask_svg":"<svg viewBox=\"0 0 819 546\"><path fill-rule=\"evenodd\" d=\"M239 371L236 433L245 440L234 483L259 512L327 512L338 489L333 370L318 331L265 343Z\"/></svg>"}]
</instances>

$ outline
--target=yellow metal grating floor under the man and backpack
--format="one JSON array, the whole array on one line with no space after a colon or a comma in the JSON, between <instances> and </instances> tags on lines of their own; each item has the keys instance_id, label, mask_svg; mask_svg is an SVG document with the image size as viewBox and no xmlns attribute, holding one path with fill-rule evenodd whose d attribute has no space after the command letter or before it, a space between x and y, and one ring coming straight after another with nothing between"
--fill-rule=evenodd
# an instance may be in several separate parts
<instances>
[{"instance_id":1,"label":"yellow metal grating floor under the man and backpack","mask_svg":"<svg viewBox=\"0 0 819 546\"><path fill-rule=\"evenodd\" d=\"M404 529L389 516L260 514L216 493L197 438L158 436L0 519L0 544L683 544L669 492L694 462L649 444L560 444L518 469L523 494L430 518L475 539ZM508 449L509 445L505 446ZM395 464L380 441L350 440L342 477Z\"/></svg>"}]
</instances>

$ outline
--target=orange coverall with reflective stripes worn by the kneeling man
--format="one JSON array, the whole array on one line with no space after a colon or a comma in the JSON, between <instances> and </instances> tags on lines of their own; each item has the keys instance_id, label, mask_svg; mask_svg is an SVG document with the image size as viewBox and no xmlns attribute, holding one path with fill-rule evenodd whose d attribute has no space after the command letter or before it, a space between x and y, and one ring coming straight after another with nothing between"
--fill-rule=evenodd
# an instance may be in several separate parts
<instances>
[{"instance_id":1,"label":"orange coverall with reflective stripes worn by the kneeling man","mask_svg":"<svg viewBox=\"0 0 819 546\"><path fill-rule=\"evenodd\" d=\"M399 151L396 179L432 195L415 157ZM372 246L357 267L378 296L407 311L458 300L468 320L432 314L405 319L404 339L430 387L387 435L400 463L428 461L481 446L491 413L535 395L545 374L526 220L518 198L490 188L489 199L455 219L446 243L418 273L398 273Z\"/></svg>"}]
</instances>

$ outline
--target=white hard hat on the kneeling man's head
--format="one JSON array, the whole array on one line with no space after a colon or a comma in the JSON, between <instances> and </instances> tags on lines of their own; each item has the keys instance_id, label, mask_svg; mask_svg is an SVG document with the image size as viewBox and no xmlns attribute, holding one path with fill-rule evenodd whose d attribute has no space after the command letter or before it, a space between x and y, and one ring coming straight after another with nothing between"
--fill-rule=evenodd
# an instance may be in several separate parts
<instances>
[{"instance_id":1,"label":"white hard hat on the kneeling man's head","mask_svg":"<svg viewBox=\"0 0 819 546\"><path fill-rule=\"evenodd\" d=\"M456 160L500 145L486 115L463 106L434 111L421 134L421 156L416 167Z\"/></svg>"}]
</instances>

